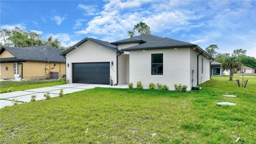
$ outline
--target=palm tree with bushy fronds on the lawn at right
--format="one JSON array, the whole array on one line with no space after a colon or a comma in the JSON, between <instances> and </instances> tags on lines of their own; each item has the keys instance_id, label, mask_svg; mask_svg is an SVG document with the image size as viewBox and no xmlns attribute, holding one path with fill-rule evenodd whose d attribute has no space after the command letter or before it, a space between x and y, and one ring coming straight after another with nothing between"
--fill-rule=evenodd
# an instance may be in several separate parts
<instances>
[{"instance_id":1,"label":"palm tree with bushy fronds on the lawn at right","mask_svg":"<svg viewBox=\"0 0 256 144\"><path fill-rule=\"evenodd\" d=\"M236 70L241 70L241 63L239 62L237 57L227 57L222 63L221 67L223 70L227 70L230 72L229 80L233 80L233 75Z\"/></svg>"}]
</instances>

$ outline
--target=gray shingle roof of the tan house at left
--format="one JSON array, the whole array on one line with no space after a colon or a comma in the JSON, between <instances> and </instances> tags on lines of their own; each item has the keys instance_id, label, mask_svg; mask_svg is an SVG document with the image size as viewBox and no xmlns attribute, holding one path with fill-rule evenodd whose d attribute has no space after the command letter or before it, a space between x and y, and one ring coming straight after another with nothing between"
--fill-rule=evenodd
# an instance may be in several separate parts
<instances>
[{"instance_id":1,"label":"gray shingle roof of the tan house at left","mask_svg":"<svg viewBox=\"0 0 256 144\"><path fill-rule=\"evenodd\" d=\"M14 58L0 58L1 62L18 62L18 61L40 61L40 62L61 62L65 63L66 58L60 56L64 50L60 50L53 46L30 46L25 48L14 48L2 46L0 54L7 50Z\"/></svg>"}]
</instances>

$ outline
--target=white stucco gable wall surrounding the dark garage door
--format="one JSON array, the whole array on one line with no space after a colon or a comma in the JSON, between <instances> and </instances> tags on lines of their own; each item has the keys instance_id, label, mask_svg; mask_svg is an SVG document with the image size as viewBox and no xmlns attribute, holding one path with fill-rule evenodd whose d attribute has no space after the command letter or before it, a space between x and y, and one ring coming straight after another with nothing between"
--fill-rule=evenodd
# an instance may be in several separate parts
<instances>
[{"instance_id":1,"label":"white stucco gable wall surrounding the dark garage door","mask_svg":"<svg viewBox=\"0 0 256 144\"><path fill-rule=\"evenodd\" d=\"M86 41L66 55L66 64L69 64L69 67L66 67L67 80L72 83L72 63L111 61L113 61L113 66L110 63L110 76L116 84L116 52L94 42Z\"/></svg>"}]
</instances>

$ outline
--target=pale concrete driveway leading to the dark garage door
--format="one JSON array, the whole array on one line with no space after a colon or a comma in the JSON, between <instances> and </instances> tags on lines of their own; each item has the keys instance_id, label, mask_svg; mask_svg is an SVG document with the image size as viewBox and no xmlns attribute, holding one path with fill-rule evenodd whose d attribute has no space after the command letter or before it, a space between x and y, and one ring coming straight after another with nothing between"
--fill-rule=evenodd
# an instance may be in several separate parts
<instances>
[{"instance_id":1,"label":"pale concrete driveway leading to the dark garage door","mask_svg":"<svg viewBox=\"0 0 256 144\"><path fill-rule=\"evenodd\" d=\"M69 94L73 92L79 92L82 90L92 89L92 88L128 88L128 84L122 84L117 86L103 85L103 84L63 84L58 86L49 86L45 88L35 88L31 90L22 90L17 92L8 92L0 94L0 108L5 106L12 106L12 99L18 100L18 104L23 104L25 102L30 102L31 96L36 95L36 100L44 100L44 94L50 92L52 98L58 97L60 89L63 89L63 94Z\"/></svg>"}]
</instances>

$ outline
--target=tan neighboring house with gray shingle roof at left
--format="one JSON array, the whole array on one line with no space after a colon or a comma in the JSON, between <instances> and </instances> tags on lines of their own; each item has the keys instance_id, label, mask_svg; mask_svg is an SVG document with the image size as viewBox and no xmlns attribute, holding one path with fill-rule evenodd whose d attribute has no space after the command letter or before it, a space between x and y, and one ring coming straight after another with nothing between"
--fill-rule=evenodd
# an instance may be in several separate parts
<instances>
[{"instance_id":1,"label":"tan neighboring house with gray shingle roof at left","mask_svg":"<svg viewBox=\"0 0 256 144\"><path fill-rule=\"evenodd\" d=\"M63 78L66 74L66 58L60 56L62 52L64 51L49 45L26 48L2 46L0 78L16 80Z\"/></svg>"}]
</instances>

